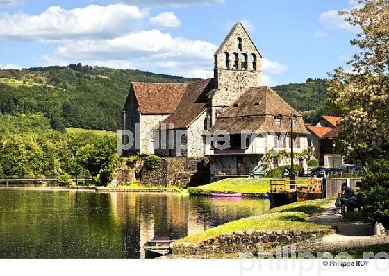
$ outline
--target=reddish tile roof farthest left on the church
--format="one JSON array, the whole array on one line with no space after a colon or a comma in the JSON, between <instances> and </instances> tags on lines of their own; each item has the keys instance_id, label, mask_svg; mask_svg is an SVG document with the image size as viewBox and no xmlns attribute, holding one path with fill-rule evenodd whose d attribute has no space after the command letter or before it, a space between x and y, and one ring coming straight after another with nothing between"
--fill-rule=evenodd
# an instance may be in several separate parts
<instances>
[{"instance_id":1,"label":"reddish tile roof farthest left on the church","mask_svg":"<svg viewBox=\"0 0 389 276\"><path fill-rule=\"evenodd\" d=\"M183 96L186 83L132 82L141 114L171 114Z\"/></svg>"}]
</instances>

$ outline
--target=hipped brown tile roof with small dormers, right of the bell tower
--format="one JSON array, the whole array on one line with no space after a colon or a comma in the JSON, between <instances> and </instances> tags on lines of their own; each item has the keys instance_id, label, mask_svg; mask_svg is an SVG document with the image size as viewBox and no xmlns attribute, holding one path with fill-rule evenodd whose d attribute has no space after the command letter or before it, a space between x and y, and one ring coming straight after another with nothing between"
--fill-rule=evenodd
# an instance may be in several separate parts
<instances>
[{"instance_id":1,"label":"hipped brown tile roof with small dormers, right of the bell tower","mask_svg":"<svg viewBox=\"0 0 389 276\"><path fill-rule=\"evenodd\" d=\"M297 117L295 132L308 134L301 114L283 101L276 92L266 86L253 87L220 114L215 125L210 128L210 133L217 130L226 130L230 134L239 134L242 130L290 132L288 118L291 114ZM276 126L275 118L278 115L282 116L281 126Z\"/></svg>"}]
</instances>

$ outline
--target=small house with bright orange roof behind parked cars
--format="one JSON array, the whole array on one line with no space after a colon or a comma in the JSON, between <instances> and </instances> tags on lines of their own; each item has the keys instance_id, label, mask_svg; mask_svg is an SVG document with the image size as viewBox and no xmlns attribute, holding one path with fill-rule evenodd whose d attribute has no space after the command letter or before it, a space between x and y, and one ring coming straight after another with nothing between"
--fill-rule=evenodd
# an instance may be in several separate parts
<instances>
[{"instance_id":1,"label":"small house with bright orange roof behind parked cars","mask_svg":"<svg viewBox=\"0 0 389 276\"><path fill-rule=\"evenodd\" d=\"M336 153L333 138L338 137L338 122L342 117L323 115L315 125L306 126L309 132L308 146L315 151L320 166L337 167L343 163L342 155Z\"/></svg>"}]
</instances>

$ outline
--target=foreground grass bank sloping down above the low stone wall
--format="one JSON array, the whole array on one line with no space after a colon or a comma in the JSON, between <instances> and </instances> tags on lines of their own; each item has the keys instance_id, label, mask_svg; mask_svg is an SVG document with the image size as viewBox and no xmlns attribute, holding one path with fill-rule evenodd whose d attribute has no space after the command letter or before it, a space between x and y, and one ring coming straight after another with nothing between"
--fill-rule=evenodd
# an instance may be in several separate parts
<instances>
[{"instance_id":1,"label":"foreground grass bank sloping down above the low stone wall","mask_svg":"<svg viewBox=\"0 0 389 276\"><path fill-rule=\"evenodd\" d=\"M266 214L242 218L238 221L231 221L214 228L210 228L202 233L186 236L179 241L190 243L200 243L222 233L233 232L245 229L254 230L317 230L329 229L330 227L315 223L308 223L305 219L311 214L315 214L321 206L326 205L332 199L308 200L290 205L283 205L271 209Z\"/></svg>"}]
</instances>

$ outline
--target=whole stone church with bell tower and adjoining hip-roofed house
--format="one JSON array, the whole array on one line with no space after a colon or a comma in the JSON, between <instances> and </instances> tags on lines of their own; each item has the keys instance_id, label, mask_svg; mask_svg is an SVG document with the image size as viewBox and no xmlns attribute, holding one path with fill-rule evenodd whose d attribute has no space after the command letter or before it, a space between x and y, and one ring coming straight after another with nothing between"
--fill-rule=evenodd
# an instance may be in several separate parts
<instances>
[{"instance_id":1,"label":"whole stone church with bell tower and adjoining hip-roofed house","mask_svg":"<svg viewBox=\"0 0 389 276\"><path fill-rule=\"evenodd\" d=\"M213 78L181 86L131 84L123 124L131 132L139 128L136 153L206 159L211 173L235 175L251 174L271 150L290 151L292 143L296 152L308 148L301 114L262 86L262 55L240 22L215 52L213 72ZM221 131L229 133L223 149L213 141Z\"/></svg>"}]
</instances>

